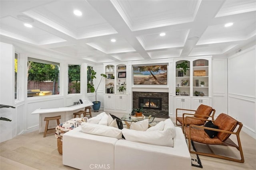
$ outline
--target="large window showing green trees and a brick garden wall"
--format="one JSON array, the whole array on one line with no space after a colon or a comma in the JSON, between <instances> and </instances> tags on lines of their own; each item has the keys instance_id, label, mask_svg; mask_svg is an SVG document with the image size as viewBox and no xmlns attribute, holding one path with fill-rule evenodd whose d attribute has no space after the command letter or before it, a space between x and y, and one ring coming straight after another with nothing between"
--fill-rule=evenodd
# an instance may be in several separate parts
<instances>
[{"instance_id":1,"label":"large window showing green trees and a brick garden wall","mask_svg":"<svg viewBox=\"0 0 256 170\"><path fill-rule=\"evenodd\" d=\"M28 97L59 94L60 63L28 58Z\"/></svg>"}]
</instances>

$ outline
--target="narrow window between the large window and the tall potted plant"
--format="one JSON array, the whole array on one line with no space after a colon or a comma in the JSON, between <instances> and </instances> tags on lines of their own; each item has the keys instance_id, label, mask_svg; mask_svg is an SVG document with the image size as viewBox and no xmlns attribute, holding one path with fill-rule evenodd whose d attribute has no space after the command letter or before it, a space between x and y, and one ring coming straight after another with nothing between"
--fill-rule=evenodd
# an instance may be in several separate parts
<instances>
[{"instance_id":1,"label":"narrow window between the large window and the tall potted plant","mask_svg":"<svg viewBox=\"0 0 256 170\"><path fill-rule=\"evenodd\" d=\"M80 65L68 65L68 94L80 93Z\"/></svg>"}]
</instances>

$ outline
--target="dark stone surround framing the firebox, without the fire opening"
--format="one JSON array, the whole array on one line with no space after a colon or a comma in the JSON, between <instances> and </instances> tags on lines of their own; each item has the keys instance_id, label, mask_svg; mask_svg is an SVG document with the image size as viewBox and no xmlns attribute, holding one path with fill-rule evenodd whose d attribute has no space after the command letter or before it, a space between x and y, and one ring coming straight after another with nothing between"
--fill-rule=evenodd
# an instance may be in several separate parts
<instances>
[{"instance_id":1,"label":"dark stone surround framing the firebox, without the fire opening","mask_svg":"<svg viewBox=\"0 0 256 170\"><path fill-rule=\"evenodd\" d=\"M132 92L132 108L138 108L139 97L162 98L162 110L144 109L143 113L155 113L158 118L169 118L168 92Z\"/></svg>"}]
</instances>

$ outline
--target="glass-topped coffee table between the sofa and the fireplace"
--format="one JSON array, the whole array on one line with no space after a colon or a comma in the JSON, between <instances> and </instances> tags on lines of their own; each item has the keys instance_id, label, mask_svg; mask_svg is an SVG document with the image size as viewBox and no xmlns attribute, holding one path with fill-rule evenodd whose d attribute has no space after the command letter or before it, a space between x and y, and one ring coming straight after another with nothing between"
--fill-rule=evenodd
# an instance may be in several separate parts
<instances>
[{"instance_id":1,"label":"glass-topped coffee table between the sofa and the fireplace","mask_svg":"<svg viewBox=\"0 0 256 170\"><path fill-rule=\"evenodd\" d=\"M132 122L148 119L148 123L152 123L152 121L155 119L155 114L154 113L143 113L141 117L136 117L135 115L132 116L130 114L125 114L122 117L120 117L120 119L122 121L124 121L127 128L129 129ZM148 124L148 127L151 127L151 126Z\"/></svg>"}]
</instances>

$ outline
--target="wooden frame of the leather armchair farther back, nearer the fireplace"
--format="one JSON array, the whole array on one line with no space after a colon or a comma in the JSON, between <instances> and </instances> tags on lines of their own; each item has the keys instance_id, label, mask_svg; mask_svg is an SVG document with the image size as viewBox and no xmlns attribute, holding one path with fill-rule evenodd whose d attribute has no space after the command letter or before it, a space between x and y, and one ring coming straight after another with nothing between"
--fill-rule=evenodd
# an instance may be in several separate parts
<instances>
[{"instance_id":1,"label":"wooden frame of the leather armchair farther back, nearer the fireplace","mask_svg":"<svg viewBox=\"0 0 256 170\"><path fill-rule=\"evenodd\" d=\"M183 131L183 133L184 133L184 126L187 127L187 123L184 123L184 122L186 122L186 120L187 120L186 117L192 118L192 116L194 115L194 113L183 113L183 114L182 114L182 122L180 122L180 121L177 119L177 117L178 117L178 110L186 110L186 111L194 111L194 112L196 112L196 110L191 110L191 109L179 109L179 108L176 109L176 125L178 125L177 123L179 122L180 125L181 125L181 128L182 128L182 131ZM213 113L212 113L212 112L213 112ZM215 112L216 112L216 110L215 110L215 109L212 109L210 115L203 115L203 116L204 116L204 117L208 117L208 118L209 118L209 117L212 117L212 120L214 120ZM191 116L186 116L186 117L185 117L185 115L191 115ZM204 119L204 120L207 120L207 119Z\"/></svg>"}]
</instances>

